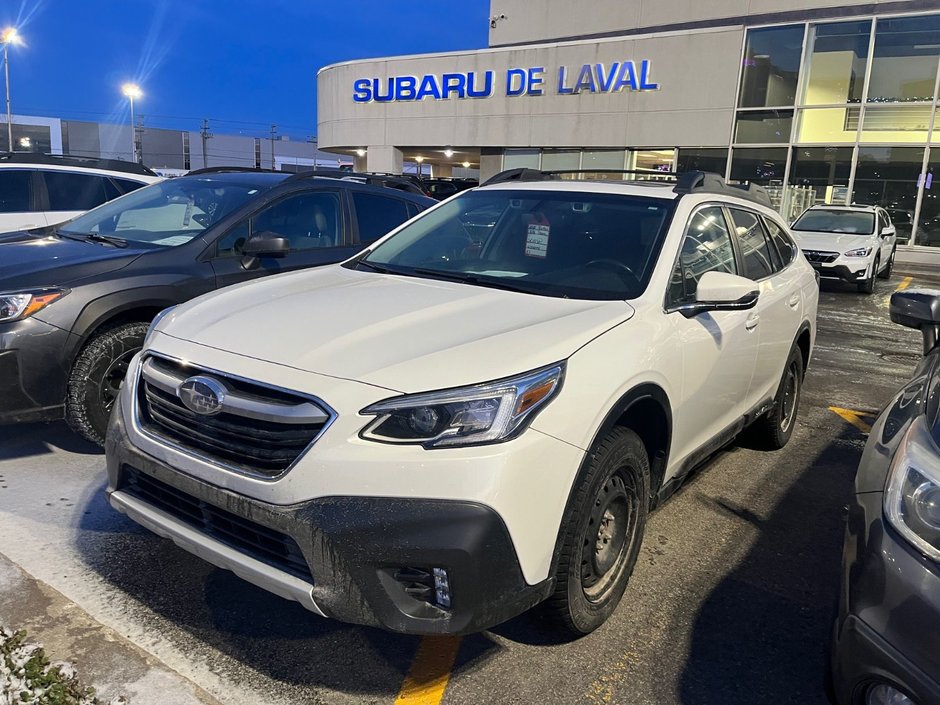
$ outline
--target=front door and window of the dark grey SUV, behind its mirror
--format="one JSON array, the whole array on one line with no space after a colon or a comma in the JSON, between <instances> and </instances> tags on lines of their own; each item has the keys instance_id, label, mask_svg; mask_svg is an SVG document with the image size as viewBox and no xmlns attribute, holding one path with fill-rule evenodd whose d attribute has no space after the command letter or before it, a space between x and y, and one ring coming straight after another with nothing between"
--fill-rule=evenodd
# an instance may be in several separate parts
<instances>
[{"instance_id":1,"label":"front door and window of the dark grey SUV, behind its mirror","mask_svg":"<svg viewBox=\"0 0 940 705\"><path fill-rule=\"evenodd\" d=\"M347 211L341 188L294 191L265 205L219 238L211 259L217 285L347 259L359 249L351 242ZM287 239L290 251L284 257L246 257L245 242L261 233Z\"/></svg>"}]
</instances>

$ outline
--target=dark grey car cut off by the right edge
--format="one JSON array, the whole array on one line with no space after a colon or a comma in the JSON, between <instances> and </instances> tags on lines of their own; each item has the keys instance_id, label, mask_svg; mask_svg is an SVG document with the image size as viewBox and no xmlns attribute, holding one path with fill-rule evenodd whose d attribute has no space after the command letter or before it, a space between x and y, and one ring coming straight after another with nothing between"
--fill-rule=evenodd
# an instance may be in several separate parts
<instances>
[{"instance_id":1,"label":"dark grey car cut off by the right edge","mask_svg":"<svg viewBox=\"0 0 940 705\"><path fill-rule=\"evenodd\" d=\"M891 295L924 358L872 426L849 503L832 675L839 705L940 703L940 291Z\"/></svg>"}]
</instances>

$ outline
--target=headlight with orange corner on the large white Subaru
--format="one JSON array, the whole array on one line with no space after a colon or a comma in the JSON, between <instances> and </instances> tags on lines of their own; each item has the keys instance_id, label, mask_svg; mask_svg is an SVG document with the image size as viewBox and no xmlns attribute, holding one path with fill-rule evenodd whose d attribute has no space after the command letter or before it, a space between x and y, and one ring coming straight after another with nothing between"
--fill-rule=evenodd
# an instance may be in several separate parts
<instances>
[{"instance_id":1,"label":"headlight with orange corner on the large white Subaru","mask_svg":"<svg viewBox=\"0 0 940 705\"><path fill-rule=\"evenodd\" d=\"M564 373L562 363L473 387L387 399L360 412L378 417L362 437L425 448L505 441L558 393Z\"/></svg>"}]
</instances>

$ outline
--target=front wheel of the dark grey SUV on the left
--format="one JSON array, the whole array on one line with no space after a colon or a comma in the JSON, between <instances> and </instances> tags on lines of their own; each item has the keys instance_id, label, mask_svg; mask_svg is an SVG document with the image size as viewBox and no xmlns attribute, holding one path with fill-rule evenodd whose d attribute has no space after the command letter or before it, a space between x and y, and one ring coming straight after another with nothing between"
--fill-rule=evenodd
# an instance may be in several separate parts
<instances>
[{"instance_id":1,"label":"front wheel of the dark grey SUV on the left","mask_svg":"<svg viewBox=\"0 0 940 705\"><path fill-rule=\"evenodd\" d=\"M65 420L88 441L104 446L108 419L131 358L143 347L147 323L125 323L88 341L72 366Z\"/></svg>"}]
</instances>

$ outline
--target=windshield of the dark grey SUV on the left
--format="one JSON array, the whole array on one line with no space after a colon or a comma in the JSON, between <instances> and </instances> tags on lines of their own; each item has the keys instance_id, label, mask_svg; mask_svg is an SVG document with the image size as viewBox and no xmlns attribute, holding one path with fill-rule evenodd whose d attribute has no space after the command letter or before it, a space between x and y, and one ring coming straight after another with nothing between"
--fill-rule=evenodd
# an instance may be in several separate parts
<instances>
[{"instance_id":1,"label":"windshield of the dark grey SUV on the left","mask_svg":"<svg viewBox=\"0 0 940 705\"><path fill-rule=\"evenodd\" d=\"M90 210L59 232L174 247L198 237L264 188L212 179L167 179Z\"/></svg>"}]
</instances>

